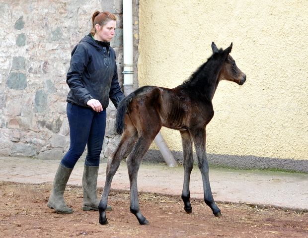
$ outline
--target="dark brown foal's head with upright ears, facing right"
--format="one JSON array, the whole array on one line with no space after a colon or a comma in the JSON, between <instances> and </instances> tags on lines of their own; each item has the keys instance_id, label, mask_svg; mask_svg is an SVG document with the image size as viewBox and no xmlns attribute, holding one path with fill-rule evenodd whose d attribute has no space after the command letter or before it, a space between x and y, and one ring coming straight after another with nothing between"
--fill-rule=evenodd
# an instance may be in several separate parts
<instances>
[{"instance_id":1,"label":"dark brown foal's head with upright ears, facing right","mask_svg":"<svg viewBox=\"0 0 308 238\"><path fill-rule=\"evenodd\" d=\"M219 80L229 80L235 82L239 85L242 85L246 81L246 74L244 74L235 64L235 60L229 55L232 49L231 45L224 51L228 54L221 73L219 75ZM219 50L215 43L212 43L213 54L218 53Z\"/></svg>"}]
</instances>

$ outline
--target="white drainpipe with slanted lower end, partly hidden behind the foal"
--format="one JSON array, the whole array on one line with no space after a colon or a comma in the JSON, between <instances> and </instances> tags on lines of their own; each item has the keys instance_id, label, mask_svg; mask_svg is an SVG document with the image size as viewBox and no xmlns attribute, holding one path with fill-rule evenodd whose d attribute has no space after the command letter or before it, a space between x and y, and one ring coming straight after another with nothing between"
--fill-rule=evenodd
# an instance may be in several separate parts
<instances>
[{"instance_id":1,"label":"white drainpipe with slanted lower end, partly hidden behind the foal","mask_svg":"<svg viewBox=\"0 0 308 238\"><path fill-rule=\"evenodd\" d=\"M123 60L124 60L124 95L134 92L134 60L133 60L133 2L123 0ZM175 167L177 163L160 132L154 139L167 166Z\"/></svg>"}]
</instances>

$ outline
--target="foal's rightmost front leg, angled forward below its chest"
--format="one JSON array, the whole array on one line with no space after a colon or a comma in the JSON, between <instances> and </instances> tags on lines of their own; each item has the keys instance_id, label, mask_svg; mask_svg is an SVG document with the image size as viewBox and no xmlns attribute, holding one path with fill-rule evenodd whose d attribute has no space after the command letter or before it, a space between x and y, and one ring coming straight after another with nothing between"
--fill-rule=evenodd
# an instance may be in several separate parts
<instances>
[{"instance_id":1,"label":"foal's rightmost front leg, angled forward below its chest","mask_svg":"<svg viewBox=\"0 0 308 238\"><path fill-rule=\"evenodd\" d=\"M203 191L204 191L204 201L212 209L213 214L216 217L221 217L221 211L217 207L210 186L209 180L209 162L206 155L205 141L206 141L206 131L205 129L198 129L191 132L193 137L193 142L195 144L196 154L198 158L198 167L201 171Z\"/></svg>"}]
</instances>

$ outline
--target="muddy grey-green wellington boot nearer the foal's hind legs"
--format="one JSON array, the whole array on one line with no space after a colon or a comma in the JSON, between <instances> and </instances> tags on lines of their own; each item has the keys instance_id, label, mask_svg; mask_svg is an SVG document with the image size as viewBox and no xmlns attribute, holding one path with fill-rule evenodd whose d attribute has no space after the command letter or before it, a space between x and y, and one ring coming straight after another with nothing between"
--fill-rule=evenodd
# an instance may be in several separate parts
<instances>
[{"instance_id":1,"label":"muddy grey-green wellington boot nearer the foal's hind legs","mask_svg":"<svg viewBox=\"0 0 308 238\"><path fill-rule=\"evenodd\" d=\"M96 194L98 168L99 166L84 166L82 177L83 211L98 211L99 200ZM107 206L107 211L111 210L112 208Z\"/></svg>"}]
</instances>

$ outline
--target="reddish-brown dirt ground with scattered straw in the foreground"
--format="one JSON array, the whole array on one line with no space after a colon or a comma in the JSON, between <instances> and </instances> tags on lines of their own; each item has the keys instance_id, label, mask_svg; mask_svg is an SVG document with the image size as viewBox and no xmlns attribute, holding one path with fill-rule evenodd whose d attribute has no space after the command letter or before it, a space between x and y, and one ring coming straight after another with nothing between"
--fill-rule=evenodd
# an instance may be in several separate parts
<instances>
[{"instance_id":1,"label":"reddish-brown dirt ground with scattered straw in the foreground","mask_svg":"<svg viewBox=\"0 0 308 238\"><path fill-rule=\"evenodd\" d=\"M216 218L201 200L193 200L193 213L186 214L178 197L140 194L141 226L130 213L129 194L111 192L107 212L109 225L100 225L98 211L82 211L82 190L68 187L65 199L74 212L59 215L47 207L52 184L0 182L0 237L308 237L308 213L262 209L247 204L222 204L223 217ZM98 191L101 194L101 191Z\"/></svg>"}]
</instances>

